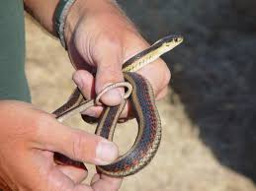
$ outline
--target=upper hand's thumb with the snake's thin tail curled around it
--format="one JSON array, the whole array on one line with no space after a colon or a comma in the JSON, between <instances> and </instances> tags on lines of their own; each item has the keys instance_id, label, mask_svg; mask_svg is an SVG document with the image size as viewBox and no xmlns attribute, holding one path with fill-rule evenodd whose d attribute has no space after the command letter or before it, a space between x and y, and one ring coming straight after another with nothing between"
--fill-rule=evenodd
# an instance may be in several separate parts
<instances>
[{"instance_id":1,"label":"upper hand's thumb with the snake's thin tail curled around it","mask_svg":"<svg viewBox=\"0 0 256 191\"><path fill-rule=\"evenodd\" d=\"M108 48L108 51L101 51L97 55L97 73L96 73L96 94L98 95L108 85L124 81L123 47L115 37L102 41L102 47ZM107 105L120 104L124 96L124 89L113 89L101 97L101 101Z\"/></svg>"}]
</instances>

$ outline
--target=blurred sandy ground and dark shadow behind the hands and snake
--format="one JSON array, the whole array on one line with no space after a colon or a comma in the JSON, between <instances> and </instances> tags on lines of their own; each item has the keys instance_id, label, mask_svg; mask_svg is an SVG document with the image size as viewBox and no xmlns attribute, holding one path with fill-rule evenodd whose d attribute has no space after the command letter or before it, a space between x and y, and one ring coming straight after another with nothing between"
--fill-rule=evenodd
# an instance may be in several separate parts
<instances>
[{"instance_id":1,"label":"blurred sandy ground and dark shadow behind the hands and snake","mask_svg":"<svg viewBox=\"0 0 256 191\"><path fill-rule=\"evenodd\" d=\"M150 42L182 34L165 55L168 96L157 103L163 139L155 159L121 190L256 190L256 2L254 0L119 1ZM33 103L51 112L71 94L73 68L59 42L26 19L27 74ZM73 127L94 132L79 117ZM135 123L119 127L123 152ZM50 133L50 132L49 132ZM89 167L90 177L94 166Z\"/></svg>"}]
</instances>

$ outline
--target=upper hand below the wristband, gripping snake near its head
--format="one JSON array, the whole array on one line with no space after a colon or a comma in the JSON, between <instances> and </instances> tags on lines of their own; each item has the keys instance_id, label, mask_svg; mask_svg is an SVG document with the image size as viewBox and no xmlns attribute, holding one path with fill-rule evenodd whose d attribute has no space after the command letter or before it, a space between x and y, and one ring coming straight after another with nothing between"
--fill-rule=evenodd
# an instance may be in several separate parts
<instances>
[{"instance_id":1,"label":"upper hand below the wristband, gripping snake near its head","mask_svg":"<svg viewBox=\"0 0 256 191\"><path fill-rule=\"evenodd\" d=\"M76 0L67 16L65 38L71 62L78 69L73 80L86 98L99 94L108 84L124 81L122 64L149 46L111 0ZM94 78L90 72L96 68ZM166 95L170 71L161 59L137 72L149 80L157 99ZM101 100L116 105L123 95L124 90L116 89ZM92 107L84 114L98 117L101 110ZM123 117L127 115L128 109Z\"/></svg>"}]
</instances>

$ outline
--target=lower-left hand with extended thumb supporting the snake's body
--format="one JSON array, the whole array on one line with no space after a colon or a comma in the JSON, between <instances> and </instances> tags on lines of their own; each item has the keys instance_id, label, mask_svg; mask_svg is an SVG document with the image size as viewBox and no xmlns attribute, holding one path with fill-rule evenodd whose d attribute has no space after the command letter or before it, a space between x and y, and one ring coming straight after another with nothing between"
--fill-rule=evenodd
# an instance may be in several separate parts
<instances>
[{"instance_id":1,"label":"lower-left hand with extended thumb supporting the snake's body","mask_svg":"<svg viewBox=\"0 0 256 191\"><path fill-rule=\"evenodd\" d=\"M84 165L58 165L53 154L107 164L118 157L115 144L72 129L33 105L0 101L0 190L115 191L121 180L95 174L91 185Z\"/></svg>"}]
</instances>

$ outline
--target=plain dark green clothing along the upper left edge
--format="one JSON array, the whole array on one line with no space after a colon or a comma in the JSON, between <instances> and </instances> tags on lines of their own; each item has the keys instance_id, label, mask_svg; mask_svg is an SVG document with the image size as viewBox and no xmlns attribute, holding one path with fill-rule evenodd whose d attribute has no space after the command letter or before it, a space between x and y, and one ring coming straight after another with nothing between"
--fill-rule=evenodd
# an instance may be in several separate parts
<instances>
[{"instance_id":1,"label":"plain dark green clothing along the upper left edge","mask_svg":"<svg viewBox=\"0 0 256 191\"><path fill-rule=\"evenodd\" d=\"M0 99L31 101L25 76L25 25L21 0L1 0Z\"/></svg>"}]
</instances>

